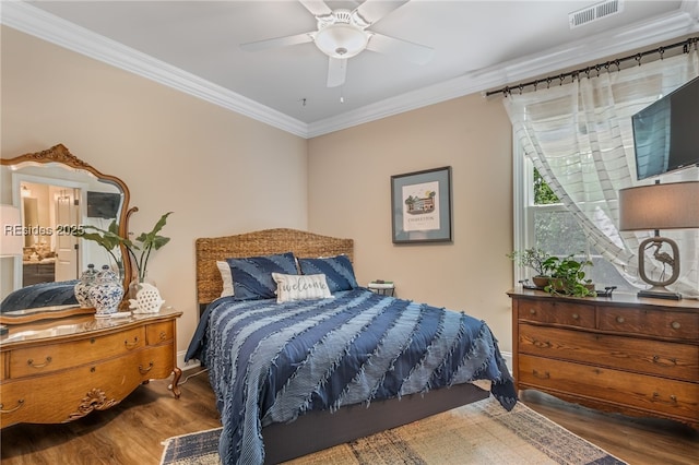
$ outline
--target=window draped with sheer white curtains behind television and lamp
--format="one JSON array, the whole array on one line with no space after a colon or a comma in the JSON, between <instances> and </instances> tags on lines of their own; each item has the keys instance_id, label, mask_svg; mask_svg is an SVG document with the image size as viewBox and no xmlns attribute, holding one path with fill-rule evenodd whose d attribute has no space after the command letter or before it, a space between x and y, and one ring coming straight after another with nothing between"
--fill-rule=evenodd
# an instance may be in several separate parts
<instances>
[{"instance_id":1,"label":"window draped with sheer white curtains behind television and lamp","mask_svg":"<svg viewBox=\"0 0 699 465\"><path fill-rule=\"evenodd\" d=\"M626 290L629 287L626 279L635 288L645 286L638 277L638 247L653 231L618 229L617 192L640 184L632 115L697 75L699 53L685 51L624 72L579 75L570 84L514 93L503 99L514 140L516 250L538 245L554 253L582 251L595 263L591 274L597 288L614 285ZM562 205L555 201L534 202L535 180L530 160L541 169ZM694 180L698 170L678 170L676 177L667 174L661 182ZM582 235L577 234L578 226ZM672 289L695 296L699 283L699 233L672 229L662 234L678 242L682 255L680 276ZM663 271L656 262L650 267ZM517 270L516 277L519 281L529 276Z\"/></svg>"}]
</instances>

